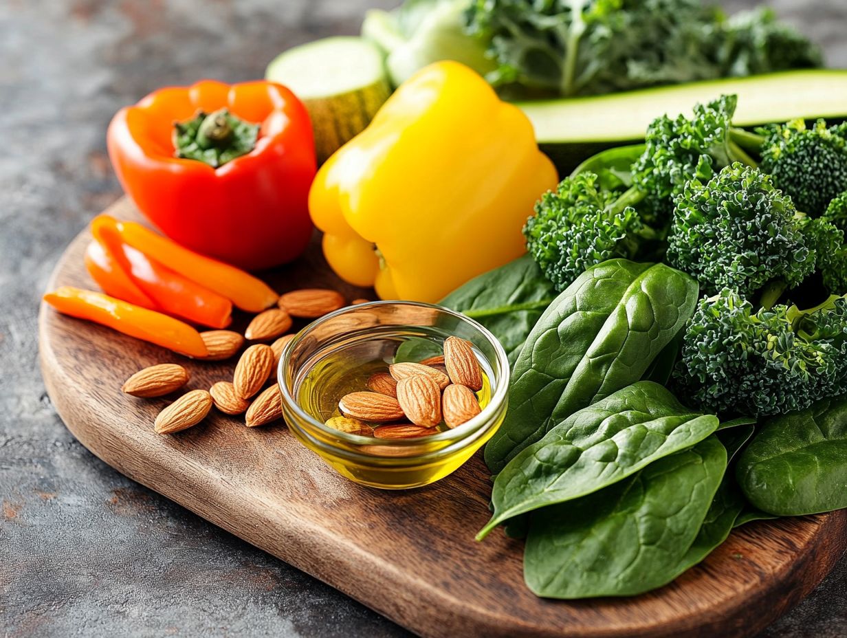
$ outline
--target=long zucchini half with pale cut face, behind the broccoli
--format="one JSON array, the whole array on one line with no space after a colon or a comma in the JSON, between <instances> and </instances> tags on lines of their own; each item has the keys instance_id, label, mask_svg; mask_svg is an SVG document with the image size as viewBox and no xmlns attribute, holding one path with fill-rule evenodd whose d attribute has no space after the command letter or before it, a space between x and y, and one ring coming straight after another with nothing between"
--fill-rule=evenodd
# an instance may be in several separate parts
<instances>
[{"instance_id":1,"label":"long zucchini half with pale cut face, behind the broccoli","mask_svg":"<svg viewBox=\"0 0 847 638\"><path fill-rule=\"evenodd\" d=\"M847 117L847 70L784 71L707 80L640 91L518 103L535 128L541 150L568 175L604 148L644 139L662 114L689 113L695 103L735 93L733 124L754 126L794 118Z\"/></svg>"}]
</instances>

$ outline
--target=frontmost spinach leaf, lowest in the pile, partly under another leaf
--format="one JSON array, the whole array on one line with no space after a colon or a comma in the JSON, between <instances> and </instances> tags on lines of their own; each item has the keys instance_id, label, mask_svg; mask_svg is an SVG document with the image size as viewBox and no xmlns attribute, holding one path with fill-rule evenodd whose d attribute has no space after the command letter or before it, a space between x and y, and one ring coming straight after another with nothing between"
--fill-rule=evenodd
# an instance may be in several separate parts
<instances>
[{"instance_id":1,"label":"frontmost spinach leaf, lowest in the pile, partly under another leaf","mask_svg":"<svg viewBox=\"0 0 847 638\"><path fill-rule=\"evenodd\" d=\"M533 513L523 575L538 596L634 596L677 577L727 467L717 437L603 491Z\"/></svg>"}]
</instances>

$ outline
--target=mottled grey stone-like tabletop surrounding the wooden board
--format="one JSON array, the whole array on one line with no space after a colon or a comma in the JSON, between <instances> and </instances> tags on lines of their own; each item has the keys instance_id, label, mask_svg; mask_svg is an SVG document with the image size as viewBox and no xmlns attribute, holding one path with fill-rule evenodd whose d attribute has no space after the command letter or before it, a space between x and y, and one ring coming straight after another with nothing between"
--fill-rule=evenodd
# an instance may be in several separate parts
<instances>
[{"instance_id":1,"label":"mottled grey stone-like tabletop surrounding the wooden board","mask_svg":"<svg viewBox=\"0 0 847 638\"><path fill-rule=\"evenodd\" d=\"M37 368L39 296L120 191L104 132L165 84L259 77L391 0L0 0L0 635L401 636L94 458ZM733 0L728 8L752 4ZM775 3L847 67L844 0ZM844 636L847 560L763 635Z\"/></svg>"}]
</instances>

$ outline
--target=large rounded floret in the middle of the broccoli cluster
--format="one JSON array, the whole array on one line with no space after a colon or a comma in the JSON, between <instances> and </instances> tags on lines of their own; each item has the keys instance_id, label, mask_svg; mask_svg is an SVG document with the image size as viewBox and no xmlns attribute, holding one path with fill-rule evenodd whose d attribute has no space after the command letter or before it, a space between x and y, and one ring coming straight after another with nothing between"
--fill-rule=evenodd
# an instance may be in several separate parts
<instances>
[{"instance_id":1,"label":"large rounded floret in the middle of the broccoli cluster","mask_svg":"<svg viewBox=\"0 0 847 638\"><path fill-rule=\"evenodd\" d=\"M706 184L686 184L676 200L667 261L707 294L729 287L752 298L772 285L776 301L815 269L815 244L801 219L768 175L736 163Z\"/></svg>"}]
</instances>

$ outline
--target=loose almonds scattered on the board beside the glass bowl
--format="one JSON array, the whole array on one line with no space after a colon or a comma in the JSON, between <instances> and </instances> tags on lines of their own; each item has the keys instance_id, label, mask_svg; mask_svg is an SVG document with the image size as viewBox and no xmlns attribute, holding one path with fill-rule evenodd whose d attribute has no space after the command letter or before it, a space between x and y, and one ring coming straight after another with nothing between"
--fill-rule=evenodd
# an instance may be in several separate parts
<instances>
[{"instance_id":1,"label":"loose almonds scattered on the board beside the glass bowl","mask_svg":"<svg viewBox=\"0 0 847 638\"><path fill-rule=\"evenodd\" d=\"M367 302L367 299L356 299L352 305ZM276 385L276 369L285 344L294 338L293 334L285 334L291 330L291 318L317 319L343 308L346 301L339 292L307 288L286 292L277 305L278 308L269 308L253 317L244 335L234 330L207 330L200 333L208 350L204 358L207 361L223 361L234 357L241 351L245 341L257 343L242 352L231 380L219 380L208 391L188 391L164 408L153 426L158 434L174 434L197 425L206 418L213 406L224 414L244 414L245 423L250 428L282 418L282 396ZM270 341L273 342L267 345ZM130 376L121 391L133 397L163 397L184 388L188 382L188 371L181 365L160 363ZM402 413L398 412L397 418L401 416ZM346 420L352 422L355 419ZM337 422L339 430L345 427L363 431L358 424Z\"/></svg>"}]
</instances>

